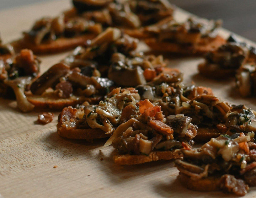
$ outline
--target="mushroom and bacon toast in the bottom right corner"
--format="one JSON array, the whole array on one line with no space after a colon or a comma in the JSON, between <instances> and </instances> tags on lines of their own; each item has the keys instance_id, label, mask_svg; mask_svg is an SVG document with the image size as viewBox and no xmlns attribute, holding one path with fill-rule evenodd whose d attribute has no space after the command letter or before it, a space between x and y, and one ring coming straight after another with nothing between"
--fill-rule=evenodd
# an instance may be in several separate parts
<instances>
[{"instance_id":1,"label":"mushroom and bacon toast in the bottom right corner","mask_svg":"<svg viewBox=\"0 0 256 198\"><path fill-rule=\"evenodd\" d=\"M176 160L181 184L193 191L218 191L244 196L255 186L254 133L212 138L199 149L181 149Z\"/></svg>"}]
</instances>

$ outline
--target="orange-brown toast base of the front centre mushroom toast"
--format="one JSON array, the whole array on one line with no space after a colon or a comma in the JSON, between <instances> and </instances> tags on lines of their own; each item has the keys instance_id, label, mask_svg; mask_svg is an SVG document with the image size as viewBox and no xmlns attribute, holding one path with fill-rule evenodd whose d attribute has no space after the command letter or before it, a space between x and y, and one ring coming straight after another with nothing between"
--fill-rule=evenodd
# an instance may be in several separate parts
<instances>
[{"instance_id":1,"label":"orange-brown toast base of the front centre mushroom toast","mask_svg":"<svg viewBox=\"0 0 256 198\"><path fill-rule=\"evenodd\" d=\"M179 149L176 149L174 151L152 151L149 155L115 155L114 162L119 165L133 165L158 160L171 160L181 157L182 153Z\"/></svg>"}]
</instances>

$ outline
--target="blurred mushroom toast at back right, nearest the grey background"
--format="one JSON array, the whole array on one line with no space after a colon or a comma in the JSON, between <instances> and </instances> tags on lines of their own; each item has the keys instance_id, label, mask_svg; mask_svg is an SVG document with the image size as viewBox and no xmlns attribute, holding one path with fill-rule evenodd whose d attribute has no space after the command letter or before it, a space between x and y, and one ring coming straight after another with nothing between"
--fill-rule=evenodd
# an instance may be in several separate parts
<instances>
[{"instance_id":1,"label":"blurred mushroom toast at back right, nearest the grey background","mask_svg":"<svg viewBox=\"0 0 256 198\"><path fill-rule=\"evenodd\" d=\"M145 32L152 36L146 38L145 43L152 50L161 52L205 54L226 43L216 33L220 25L219 21L205 22L195 18L184 23L169 20L146 28Z\"/></svg>"}]
</instances>

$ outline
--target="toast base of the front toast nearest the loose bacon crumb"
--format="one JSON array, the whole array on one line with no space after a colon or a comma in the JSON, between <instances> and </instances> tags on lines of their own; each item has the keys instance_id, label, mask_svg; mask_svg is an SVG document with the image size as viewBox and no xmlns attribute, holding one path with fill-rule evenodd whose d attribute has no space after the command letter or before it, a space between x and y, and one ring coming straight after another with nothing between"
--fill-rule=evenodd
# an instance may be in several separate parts
<instances>
[{"instance_id":1,"label":"toast base of the front toast nearest the loose bacon crumb","mask_svg":"<svg viewBox=\"0 0 256 198\"><path fill-rule=\"evenodd\" d=\"M63 138L69 138L69 139L98 139L98 138L107 138L110 137L111 134L106 134L101 129L66 129L65 125L62 125L62 123L58 122L57 124L57 132L59 136Z\"/></svg>"}]
</instances>

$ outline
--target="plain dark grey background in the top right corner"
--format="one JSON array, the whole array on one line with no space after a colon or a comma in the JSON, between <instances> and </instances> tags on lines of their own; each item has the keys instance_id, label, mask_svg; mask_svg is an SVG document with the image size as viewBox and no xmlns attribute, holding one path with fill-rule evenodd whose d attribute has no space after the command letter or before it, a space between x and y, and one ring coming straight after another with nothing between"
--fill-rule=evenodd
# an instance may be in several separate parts
<instances>
[{"instance_id":1,"label":"plain dark grey background in the top right corner","mask_svg":"<svg viewBox=\"0 0 256 198\"><path fill-rule=\"evenodd\" d=\"M207 19L222 19L223 27L256 42L256 0L170 0Z\"/></svg>"}]
</instances>

